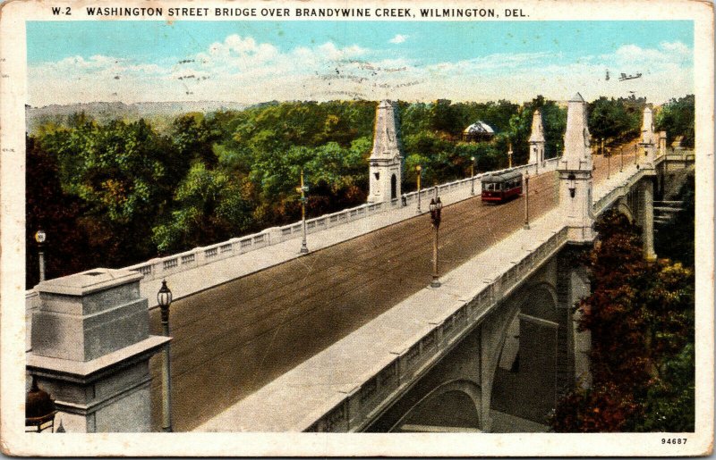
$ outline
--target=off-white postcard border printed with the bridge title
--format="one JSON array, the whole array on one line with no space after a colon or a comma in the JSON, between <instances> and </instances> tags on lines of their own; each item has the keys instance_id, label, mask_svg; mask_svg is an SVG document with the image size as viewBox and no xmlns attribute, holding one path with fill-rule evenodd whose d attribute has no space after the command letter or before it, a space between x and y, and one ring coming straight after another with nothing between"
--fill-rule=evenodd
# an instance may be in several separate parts
<instances>
[{"instance_id":1,"label":"off-white postcard border printed with the bridge title","mask_svg":"<svg viewBox=\"0 0 716 460\"><path fill-rule=\"evenodd\" d=\"M447 0L446 0L447 2ZM446 2L421 0L421 5ZM418 2L365 1L361 7L407 7ZM696 432L682 446L665 447L664 433L644 434L325 434L325 433L142 433L25 434L21 424L25 389L24 328L24 135L26 98L25 21L57 21L50 5L72 5L78 14L64 21L107 21L83 17L81 6L119 2L10 0L0 8L0 440L4 453L31 456L693 456L712 449L713 440L713 5L668 1L523 1L507 3L459 0L451 7L514 4L530 13L528 21L691 20L695 30L696 96ZM198 2L158 1L152 6L198 6ZM122 6L148 6L122 2ZM247 1L241 6L305 4L297 1ZM311 6L345 6L317 1ZM214 8L223 2L202 2ZM238 4L236 4L238 5ZM358 3L353 3L358 5ZM156 21L157 18L125 18ZM236 18L207 18L236 21ZM241 20L245 20L241 18ZM254 21L266 19L254 18ZM276 20L276 19L271 19ZM283 21L284 19L282 19ZM286 21L301 18L286 18ZM182 20L175 20L182 21ZM191 21L200 21L192 18ZM327 21L355 21L330 19ZM371 18L371 21L381 21ZM415 20L417 21L417 20ZM433 19L431 21L440 21ZM451 19L450 21L469 21ZM501 21L501 20L490 20ZM515 19L510 19L515 21Z\"/></svg>"}]
</instances>

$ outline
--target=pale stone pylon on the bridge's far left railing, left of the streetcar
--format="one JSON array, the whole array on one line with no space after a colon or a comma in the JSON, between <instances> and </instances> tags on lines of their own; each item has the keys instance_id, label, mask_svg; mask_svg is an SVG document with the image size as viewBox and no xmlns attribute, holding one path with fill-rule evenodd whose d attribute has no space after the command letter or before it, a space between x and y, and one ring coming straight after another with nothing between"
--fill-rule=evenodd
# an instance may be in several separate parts
<instances>
[{"instance_id":1,"label":"pale stone pylon on the bridge's far left railing, left of the streetcar","mask_svg":"<svg viewBox=\"0 0 716 460\"><path fill-rule=\"evenodd\" d=\"M375 114L375 137L369 159L371 203L389 203L400 198L403 155L397 136L396 107L390 101L381 101Z\"/></svg>"}]
</instances>

